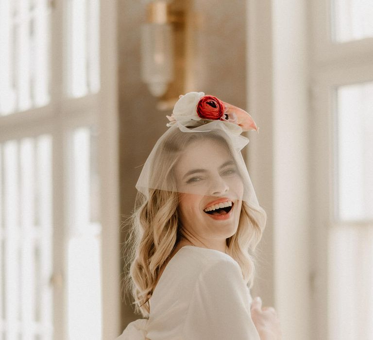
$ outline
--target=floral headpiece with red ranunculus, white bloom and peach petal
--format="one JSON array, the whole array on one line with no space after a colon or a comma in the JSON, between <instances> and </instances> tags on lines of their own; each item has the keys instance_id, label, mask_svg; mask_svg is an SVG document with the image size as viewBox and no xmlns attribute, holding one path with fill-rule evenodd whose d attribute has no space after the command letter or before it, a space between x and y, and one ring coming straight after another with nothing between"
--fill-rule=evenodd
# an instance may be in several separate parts
<instances>
[{"instance_id":1,"label":"floral headpiece with red ranunculus, white bloom and peach petal","mask_svg":"<svg viewBox=\"0 0 373 340\"><path fill-rule=\"evenodd\" d=\"M205 96L203 92L188 92L179 96L172 115L166 116L170 122L184 126L199 126L212 120L221 120L235 133L255 130L259 133L253 118L244 110L214 96Z\"/></svg>"}]
</instances>

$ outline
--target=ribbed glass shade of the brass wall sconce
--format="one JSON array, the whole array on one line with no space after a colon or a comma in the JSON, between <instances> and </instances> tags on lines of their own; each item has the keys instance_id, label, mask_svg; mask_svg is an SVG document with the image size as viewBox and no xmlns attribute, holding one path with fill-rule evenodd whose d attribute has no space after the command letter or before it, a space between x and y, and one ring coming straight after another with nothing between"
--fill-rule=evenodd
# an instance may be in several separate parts
<instances>
[{"instance_id":1,"label":"ribbed glass shade of the brass wall sconce","mask_svg":"<svg viewBox=\"0 0 373 340\"><path fill-rule=\"evenodd\" d=\"M152 95L161 97L173 80L172 26L145 23L141 29L141 77Z\"/></svg>"}]
</instances>

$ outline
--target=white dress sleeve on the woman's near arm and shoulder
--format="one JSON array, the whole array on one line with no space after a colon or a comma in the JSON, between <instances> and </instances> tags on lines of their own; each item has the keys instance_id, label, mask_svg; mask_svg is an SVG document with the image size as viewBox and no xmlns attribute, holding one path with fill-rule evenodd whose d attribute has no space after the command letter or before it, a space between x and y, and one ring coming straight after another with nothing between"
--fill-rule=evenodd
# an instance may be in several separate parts
<instances>
[{"instance_id":1,"label":"white dress sleeve on the woman's near arm and shoulder","mask_svg":"<svg viewBox=\"0 0 373 340\"><path fill-rule=\"evenodd\" d=\"M260 340L237 262L206 268L194 287L183 327L186 340Z\"/></svg>"}]
</instances>

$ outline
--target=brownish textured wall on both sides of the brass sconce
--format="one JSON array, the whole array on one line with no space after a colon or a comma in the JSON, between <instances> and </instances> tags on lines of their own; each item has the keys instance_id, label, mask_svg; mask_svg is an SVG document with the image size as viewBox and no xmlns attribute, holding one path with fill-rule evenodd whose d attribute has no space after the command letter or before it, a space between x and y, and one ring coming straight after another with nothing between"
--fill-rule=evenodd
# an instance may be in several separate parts
<instances>
[{"instance_id":1,"label":"brownish textured wall on both sides of the brass sconce","mask_svg":"<svg viewBox=\"0 0 373 340\"><path fill-rule=\"evenodd\" d=\"M239 107L246 105L245 1L195 0L186 2L186 91L203 91ZM141 166L156 140L167 129L166 115L140 80L140 25L145 20L142 1L118 1L120 209L134 206L135 184ZM124 218L122 218L124 220ZM121 233L124 242L125 231ZM128 300L122 304L123 328L139 316Z\"/></svg>"}]
</instances>

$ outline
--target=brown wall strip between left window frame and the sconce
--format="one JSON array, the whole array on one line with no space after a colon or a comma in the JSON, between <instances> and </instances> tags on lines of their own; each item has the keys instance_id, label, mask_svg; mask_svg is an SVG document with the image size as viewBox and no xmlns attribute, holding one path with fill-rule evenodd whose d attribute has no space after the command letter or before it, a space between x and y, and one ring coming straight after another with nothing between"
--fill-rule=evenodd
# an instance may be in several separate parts
<instances>
[{"instance_id":1,"label":"brown wall strip between left window frame and the sconce","mask_svg":"<svg viewBox=\"0 0 373 340\"><path fill-rule=\"evenodd\" d=\"M155 100L140 80L139 30L143 16L142 1L118 1L119 197L122 216L129 215L133 209L140 166L166 129L164 114L154 109ZM124 219L123 216L122 221ZM122 232L120 242L124 242L125 237ZM120 266L122 269L123 263ZM131 303L127 299L126 304L122 304L121 329L138 318L133 314Z\"/></svg>"}]
</instances>

